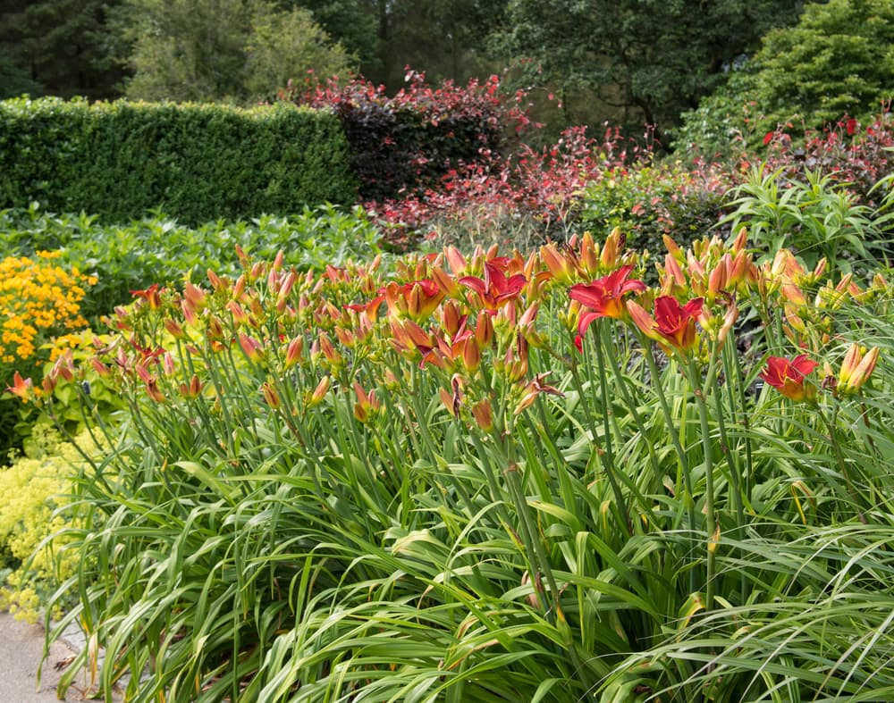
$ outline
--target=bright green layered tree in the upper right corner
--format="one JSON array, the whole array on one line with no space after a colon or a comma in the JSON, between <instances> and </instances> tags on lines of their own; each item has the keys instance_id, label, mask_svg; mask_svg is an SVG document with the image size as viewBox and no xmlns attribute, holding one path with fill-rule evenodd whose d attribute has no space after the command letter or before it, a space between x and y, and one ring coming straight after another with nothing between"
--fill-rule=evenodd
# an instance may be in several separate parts
<instances>
[{"instance_id":1,"label":"bright green layered tree in the upper right corner","mask_svg":"<svg viewBox=\"0 0 894 703\"><path fill-rule=\"evenodd\" d=\"M741 136L757 146L786 125L820 129L846 114L872 121L894 99L894 3L809 4L797 26L777 29L741 70L684 115L681 146L726 151Z\"/></svg>"}]
</instances>

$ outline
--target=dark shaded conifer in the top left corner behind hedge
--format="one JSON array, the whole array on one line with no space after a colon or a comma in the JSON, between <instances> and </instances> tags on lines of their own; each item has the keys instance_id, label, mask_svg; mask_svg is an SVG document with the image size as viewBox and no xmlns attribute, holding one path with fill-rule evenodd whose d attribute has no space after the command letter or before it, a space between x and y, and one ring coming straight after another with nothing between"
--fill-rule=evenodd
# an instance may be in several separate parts
<instances>
[{"instance_id":1,"label":"dark shaded conifer in the top left corner behind hedge","mask_svg":"<svg viewBox=\"0 0 894 703\"><path fill-rule=\"evenodd\" d=\"M117 0L6 0L0 9L0 92L114 96L108 16ZM25 80L25 82L21 82ZM12 91L12 93L10 92Z\"/></svg>"}]
</instances>

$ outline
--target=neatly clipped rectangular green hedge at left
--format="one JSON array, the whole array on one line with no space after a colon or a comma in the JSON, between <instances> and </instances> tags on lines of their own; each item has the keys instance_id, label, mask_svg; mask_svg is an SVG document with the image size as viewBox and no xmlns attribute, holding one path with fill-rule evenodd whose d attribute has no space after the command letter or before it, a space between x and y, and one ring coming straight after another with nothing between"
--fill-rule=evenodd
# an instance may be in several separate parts
<instances>
[{"instance_id":1,"label":"neatly clipped rectangular green hedge at left","mask_svg":"<svg viewBox=\"0 0 894 703\"><path fill-rule=\"evenodd\" d=\"M355 197L337 118L293 105L0 103L0 207L39 201L129 222L299 212Z\"/></svg>"}]
</instances>

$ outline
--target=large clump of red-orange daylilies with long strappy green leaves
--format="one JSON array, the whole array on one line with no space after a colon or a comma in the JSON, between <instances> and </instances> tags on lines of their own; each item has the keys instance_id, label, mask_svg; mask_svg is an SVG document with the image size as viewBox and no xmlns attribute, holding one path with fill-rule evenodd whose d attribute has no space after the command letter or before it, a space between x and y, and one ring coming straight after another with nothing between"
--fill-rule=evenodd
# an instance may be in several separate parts
<instances>
[{"instance_id":1,"label":"large clump of red-orange daylilies with long strappy green leaves","mask_svg":"<svg viewBox=\"0 0 894 703\"><path fill-rule=\"evenodd\" d=\"M619 240L140 291L51 639L138 701L890 699L890 287Z\"/></svg>"}]
</instances>

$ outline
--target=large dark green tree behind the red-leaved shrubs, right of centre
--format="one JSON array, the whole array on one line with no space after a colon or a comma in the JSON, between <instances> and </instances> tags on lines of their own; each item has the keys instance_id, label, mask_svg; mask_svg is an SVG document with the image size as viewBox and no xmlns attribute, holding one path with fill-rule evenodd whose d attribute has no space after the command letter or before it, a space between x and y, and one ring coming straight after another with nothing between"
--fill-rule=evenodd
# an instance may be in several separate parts
<instances>
[{"instance_id":1,"label":"large dark green tree behind the red-leaved shrubs, right of centre","mask_svg":"<svg viewBox=\"0 0 894 703\"><path fill-rule=\"evenodd\" d=\"M494 37L507 57L529 58L528 80L563 98L566 119L657 127L722 80L765 31L797 20L801 0L510 0L510 29ZM576 113L590 93L596 105ZM590 113L590 114L587 114Z\"/></svg>"}]
</instances>

